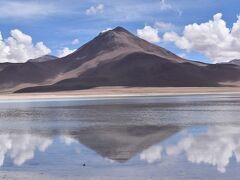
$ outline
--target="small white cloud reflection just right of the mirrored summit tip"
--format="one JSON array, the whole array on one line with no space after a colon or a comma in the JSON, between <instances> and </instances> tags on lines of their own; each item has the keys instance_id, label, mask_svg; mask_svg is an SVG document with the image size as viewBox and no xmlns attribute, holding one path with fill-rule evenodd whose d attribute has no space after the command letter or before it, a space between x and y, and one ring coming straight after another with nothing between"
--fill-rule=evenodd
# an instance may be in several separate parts
<instances>
[{"instance_id":1,"label":"small white cloud reflection just right of the mirrored summit tip","mask_svg":"<svg viewBox=\"0 0 240 180\"><path fill-rule=\"evenodd\" d=\"M140 154L140 159L145 160L148 163L153 163L157 160L161 160L162 147L161 146L152 146L146 150L144 150Z\"/></svg>"}]
</instances>

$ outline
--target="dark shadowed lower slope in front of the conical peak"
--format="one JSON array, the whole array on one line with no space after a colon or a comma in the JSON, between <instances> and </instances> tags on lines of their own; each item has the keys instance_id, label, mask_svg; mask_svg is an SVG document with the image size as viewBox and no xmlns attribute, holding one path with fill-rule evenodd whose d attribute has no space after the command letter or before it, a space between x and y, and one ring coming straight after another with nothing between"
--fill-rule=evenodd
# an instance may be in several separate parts
<instances>
[{"instance_id":1,"label":"dark shadowed lower slope in front of the conical peak","mask_svg":"<svg viewBox=\"0 0 240 180\"><path fill-rule=\"evenodd\" d=\"M172 63L155 55L133 53L121 60L100 64L77 78L50 86L30 87L19 92L78 90L96 86L135 87L210 87L218 82L239 81L240 69L235 65L197 66Z\"/></svg>"}]
</instances>

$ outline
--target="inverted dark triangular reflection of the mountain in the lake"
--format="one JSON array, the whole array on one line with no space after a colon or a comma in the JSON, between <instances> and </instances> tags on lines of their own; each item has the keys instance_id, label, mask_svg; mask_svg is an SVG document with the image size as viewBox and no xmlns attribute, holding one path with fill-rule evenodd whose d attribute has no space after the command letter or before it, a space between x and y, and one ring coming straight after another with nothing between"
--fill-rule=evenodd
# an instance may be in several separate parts
<instances>
[{"instance_id":1,"label":"inverted dark triangular reflection of the mountain in the lake","mask_svg":"<svg viewBox=\"0 0 240 180\"><path fill-rule=\"evenodd\" d=\"M180 130L177 126L93 127L74 135L103 157L125 162Z\"/></svg>"}]
</instances>

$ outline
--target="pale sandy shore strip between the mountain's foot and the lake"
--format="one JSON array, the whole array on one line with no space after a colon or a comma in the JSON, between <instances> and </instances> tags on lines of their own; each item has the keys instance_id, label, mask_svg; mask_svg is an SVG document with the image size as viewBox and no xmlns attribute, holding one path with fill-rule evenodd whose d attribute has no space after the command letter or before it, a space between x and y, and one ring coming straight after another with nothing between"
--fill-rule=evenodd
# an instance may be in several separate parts
<instances>
[{"instance_id":1,"label":"pale sandy shore strip between the mountain's foot and the lake","mask_svg":"<svg viewBox=\"0 0 240 180\"><path fill-rule=\"evenodd\" d=\"M165 96L194 94L240 94L240 87L98 87L88 90L48 93L2 93L0 100L58 99L58 98L104 98L128 96Z\"/></svg>"}]
</instances>

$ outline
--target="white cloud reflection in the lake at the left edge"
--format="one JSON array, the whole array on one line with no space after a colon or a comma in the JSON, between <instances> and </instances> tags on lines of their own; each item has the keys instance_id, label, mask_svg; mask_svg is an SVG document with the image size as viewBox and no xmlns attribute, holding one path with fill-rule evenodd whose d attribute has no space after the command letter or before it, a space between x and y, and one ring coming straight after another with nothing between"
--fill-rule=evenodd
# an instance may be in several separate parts
<instances>
[{"instance_id":1,"label":"white cloud reflection in the lake at the left edge","mask_svg":"<svg viewBox=\"0 0 240 180\"><path fill-rule=\"evenodd\" d=\"M34 157L35 150L44 152L52 140L31 134L0 135L0 166L3 165L6 154L10 154L15 165L22 165Z\"/></svg>"}]
</instances>

